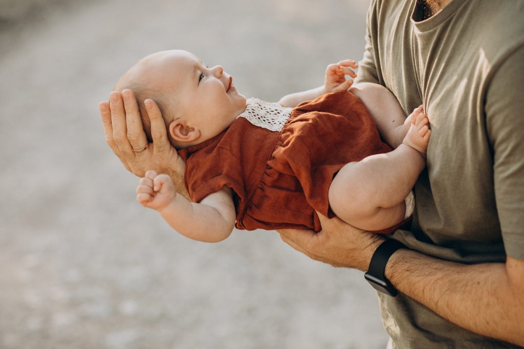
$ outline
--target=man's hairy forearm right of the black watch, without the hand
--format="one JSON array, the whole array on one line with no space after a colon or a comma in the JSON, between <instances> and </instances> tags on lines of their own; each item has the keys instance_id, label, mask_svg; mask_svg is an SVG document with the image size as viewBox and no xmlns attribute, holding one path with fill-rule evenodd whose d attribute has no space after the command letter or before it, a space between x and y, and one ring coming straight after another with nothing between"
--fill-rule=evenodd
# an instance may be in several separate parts
<instances>
[{"instance_id":1,"label":"man's hairy forearm right of the black watch, without the hand","mask_svg":"<svg viewBox=\"0 0 524 349\"><path fill-rule=\"evenodd\" d=\"M522 264L464 265L411 250L394 253L386 277L401 292L472 332L524 346Z\"/></svg>"}]
</instances>

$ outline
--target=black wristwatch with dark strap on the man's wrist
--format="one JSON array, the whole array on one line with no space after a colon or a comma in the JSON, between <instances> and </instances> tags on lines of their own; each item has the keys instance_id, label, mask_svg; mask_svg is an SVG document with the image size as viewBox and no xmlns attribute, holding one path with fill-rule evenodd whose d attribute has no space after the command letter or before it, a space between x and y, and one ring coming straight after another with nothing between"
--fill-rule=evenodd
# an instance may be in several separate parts
<instances>
[{"instance_id":1,"label":"black wristwatch with dark strap on the man's wrist","mask_svg":"<svg viewBox=\"0 0 524 349\"><path fill-rule=\"evenodd\" d=\"M364 277L371 286L391 297L395 297L398 294L397 289L386 279L384 272L389 257L391 257L395 251L405 248L406 246L393 239L386 240L378 246L373 257L371 257L368 271L364 274Z\"/></svg>"}]
</instances>

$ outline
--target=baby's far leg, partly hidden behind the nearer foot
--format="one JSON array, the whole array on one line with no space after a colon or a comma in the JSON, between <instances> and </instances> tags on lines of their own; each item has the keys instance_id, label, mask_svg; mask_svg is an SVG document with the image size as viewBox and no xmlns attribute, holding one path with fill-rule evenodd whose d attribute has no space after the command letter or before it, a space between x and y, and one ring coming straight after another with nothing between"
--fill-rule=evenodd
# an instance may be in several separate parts
<instances>
[{"instance_id":1,"label":"baby's far leg, partly hidden behind the nearer foot","mask_svg":"<svg viewBox=\"0 0 524 349\"><path fill-rule=\"evenodd\" d=\"M397 98L386 87L373 83L361 83L351 87L350 92L366 106L375 121L380 137L397 148L408 132L411 122L398 103Z\"/></svg>"}]
</instances>

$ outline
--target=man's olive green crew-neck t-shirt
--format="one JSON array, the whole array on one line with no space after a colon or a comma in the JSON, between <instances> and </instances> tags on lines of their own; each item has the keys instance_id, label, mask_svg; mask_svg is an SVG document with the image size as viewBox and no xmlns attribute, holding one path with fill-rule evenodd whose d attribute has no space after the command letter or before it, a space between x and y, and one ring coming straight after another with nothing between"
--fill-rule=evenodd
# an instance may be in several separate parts
<instances>
[{"instance_id":1,"label":"man's olive green crew-neck t-shirt","mask_svg":"<svg viewBox=\"0 0 524 349\"><path fill-rule=\"evenodd\" d=\"M406 115L423 104L432 130L411 231L393 237L449 261L524 260L524 1L453 0L424 20L417 0L373 0L366 40L356 82L386 86ZM516 347L379 298L395 347Z\"/></svg>"}]
</instances>

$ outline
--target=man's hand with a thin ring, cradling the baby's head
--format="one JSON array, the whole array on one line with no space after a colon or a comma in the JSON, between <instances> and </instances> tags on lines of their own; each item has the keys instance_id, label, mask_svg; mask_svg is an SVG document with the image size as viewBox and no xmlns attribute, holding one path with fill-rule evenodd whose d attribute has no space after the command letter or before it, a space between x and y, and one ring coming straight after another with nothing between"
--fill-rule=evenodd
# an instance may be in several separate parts
<instances>
[{"instance_id":1,"label":"man's hand with a thin ring, cradling the baby's head","mask_svg":"<svg viewBox=\"0 0 524 349\"><path fill-rule=\"evenodd\" d=\"M110 103L101 102L100 115L106 142L128 171L139 177L144 177L149 169L166 173L173 179L177 191L188 198L184 184L185 163L169 143L166 125L157 104L147 99L145 105L151 121L151 144L147 142L132 91L114 91L110 94ZM146 144L144 151L133 151L144 148Z\"/></svg>"}]
</instances>

